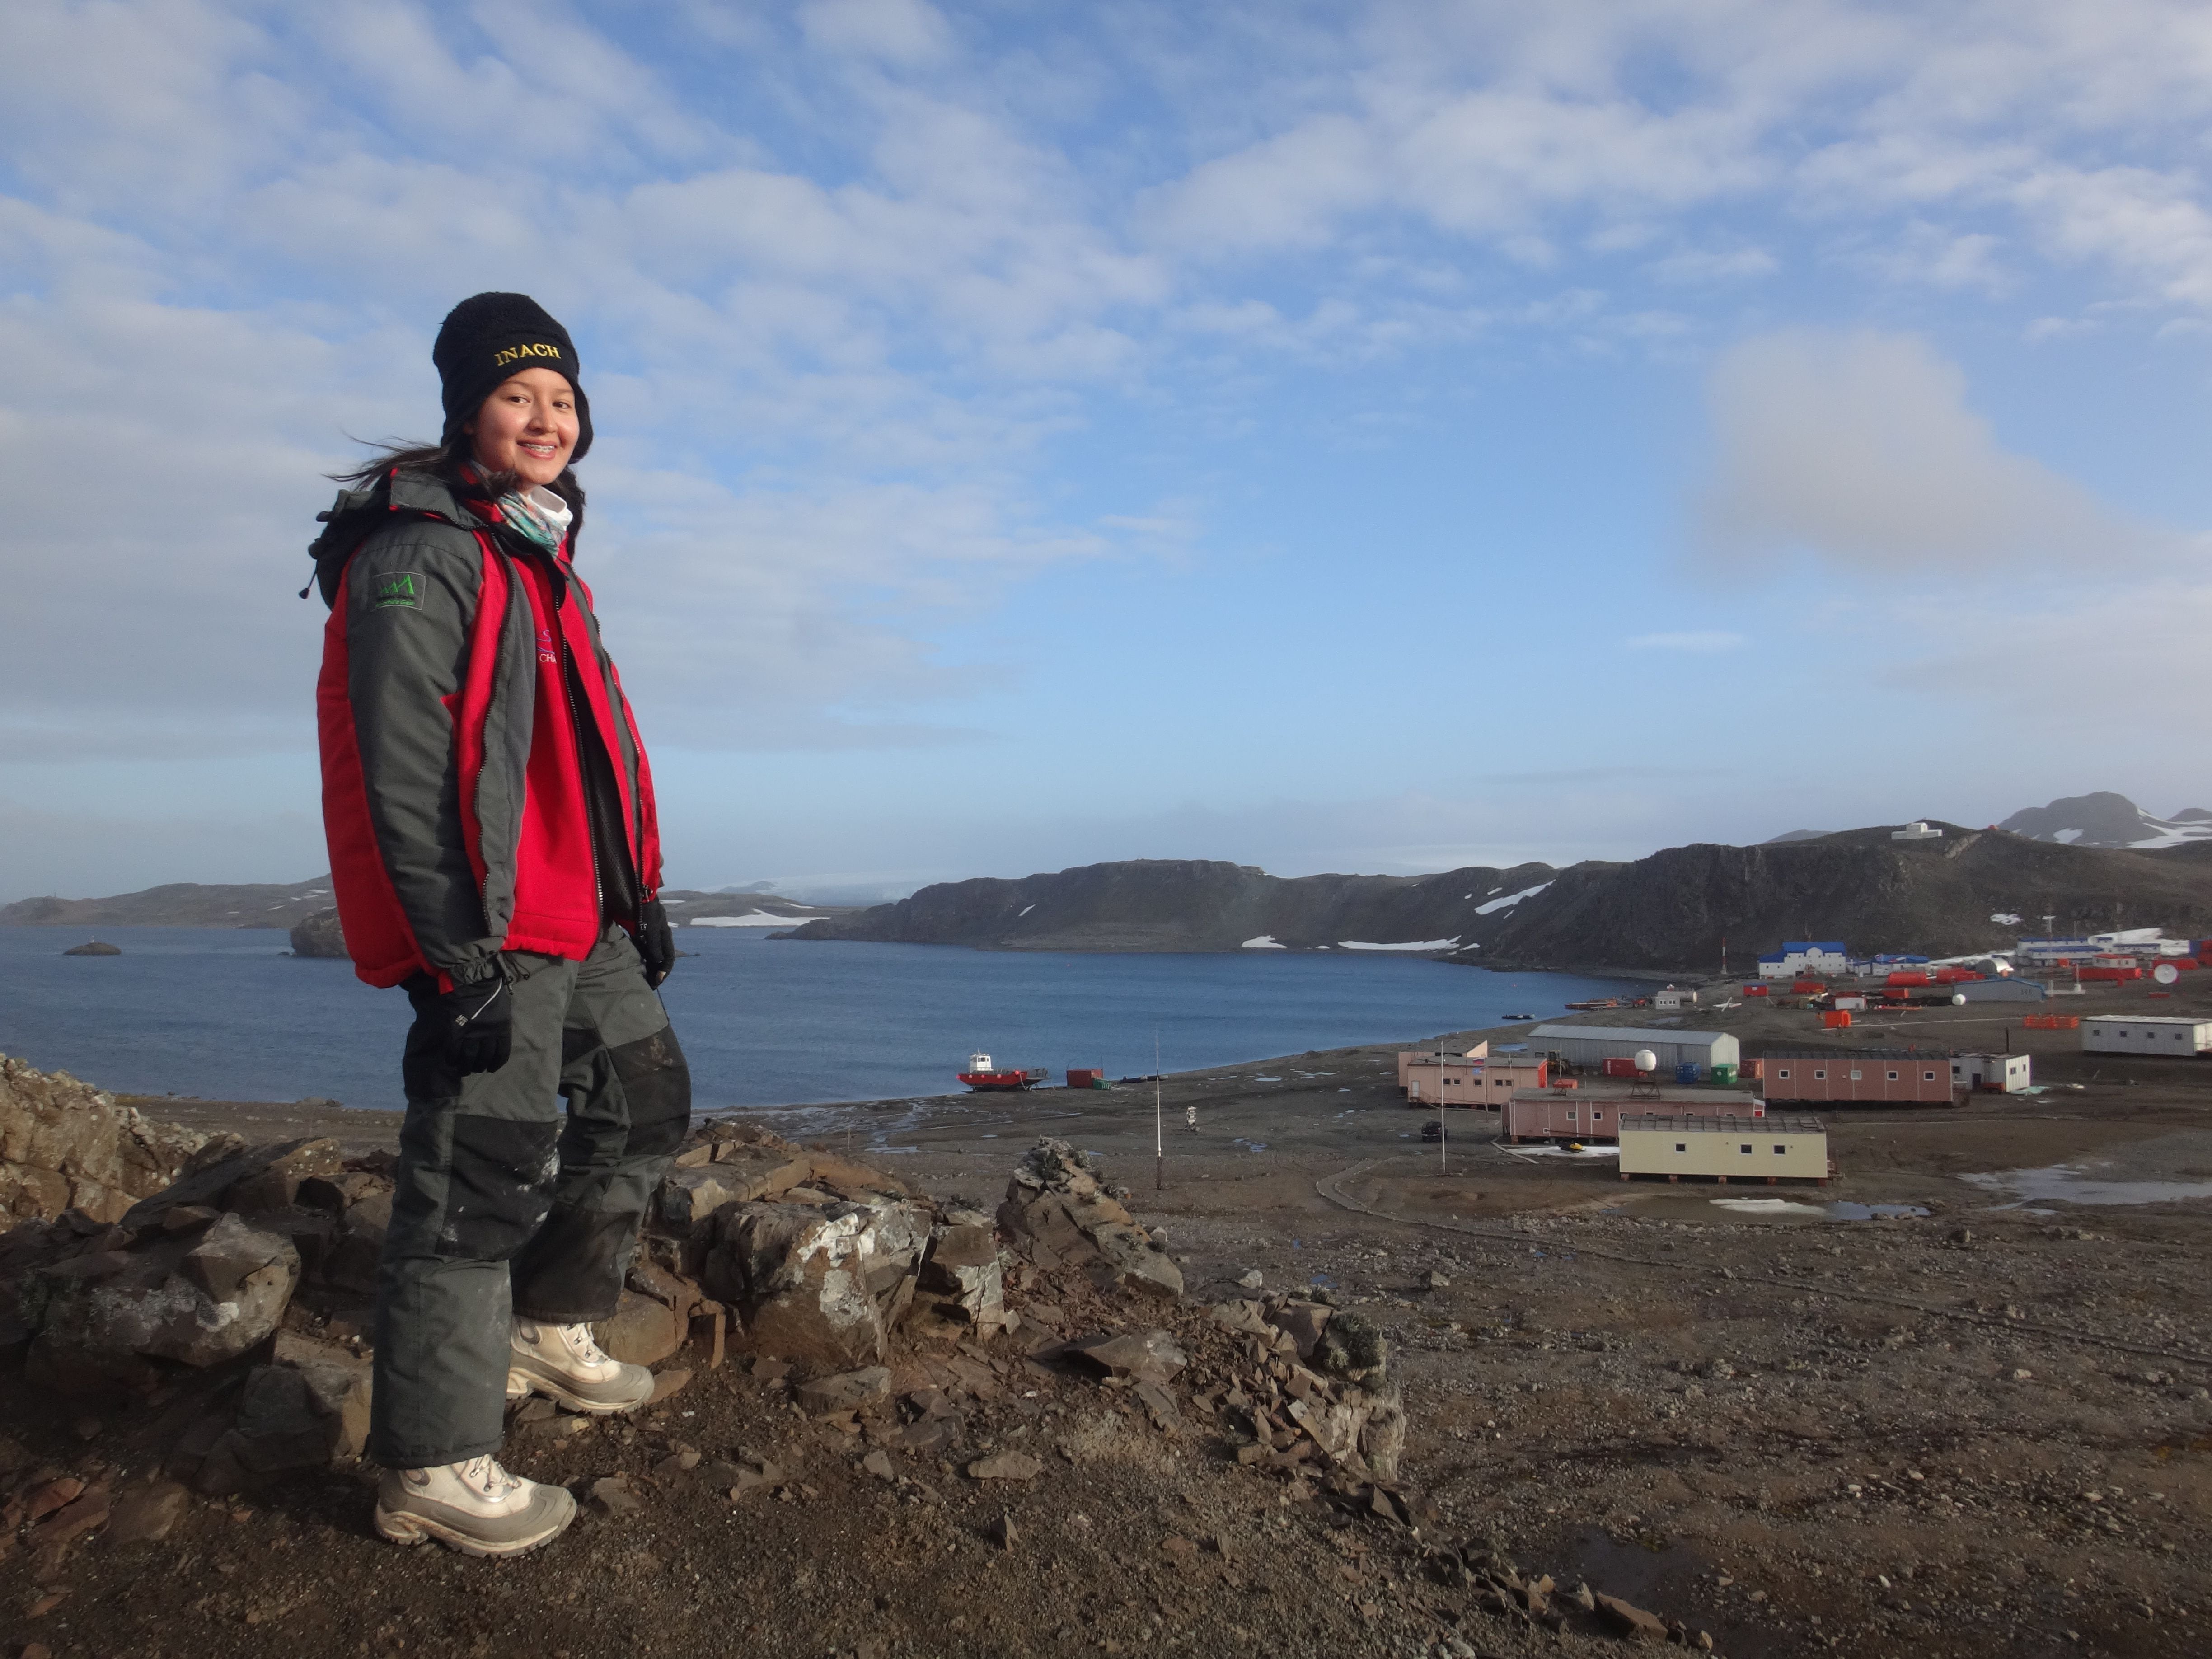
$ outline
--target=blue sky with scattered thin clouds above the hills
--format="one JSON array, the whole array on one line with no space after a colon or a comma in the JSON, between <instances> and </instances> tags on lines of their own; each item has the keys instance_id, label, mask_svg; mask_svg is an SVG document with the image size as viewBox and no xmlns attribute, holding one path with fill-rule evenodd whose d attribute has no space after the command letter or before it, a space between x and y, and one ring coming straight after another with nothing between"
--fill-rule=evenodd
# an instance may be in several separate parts
<instances>
[{"instance_id":1,"label":"blue sky with scattered thin clouds above the hills","mask_svg":"<svg viewBox=\"0 0 2212 1659\"><path fill-rule=\"evenodd\" d=\"M0 900L327 869L524 290L668 880L2212 805L2212 11L0 7Z\"/></svg>"}]
</instances>

